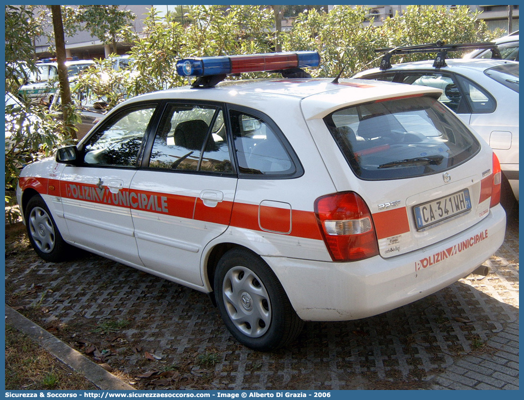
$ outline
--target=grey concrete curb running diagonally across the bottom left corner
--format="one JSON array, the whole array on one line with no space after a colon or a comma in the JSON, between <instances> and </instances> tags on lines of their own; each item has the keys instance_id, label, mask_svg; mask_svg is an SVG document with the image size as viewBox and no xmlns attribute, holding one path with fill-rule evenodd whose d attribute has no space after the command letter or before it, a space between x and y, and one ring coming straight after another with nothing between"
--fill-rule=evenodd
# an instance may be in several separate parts
<instances>
[{"instance_id":1,"label":"grey concrete curb running diagonally across the bottom left corner","mask_svg":"<svg viewBox=\"0 0 524 400\"><path fill-rule=\"evenodd\" d=\"M5 305L6 323L11 324L35 340L40 346L49 351L57 359L69 366L73 371L78 372L91 381L101 390L136 390L115 375L104 370L100 365L86 358L82 353L72 349L56 336L51 335L47 330L36 325L13 308Z\"/></svg>"}]
</instances>

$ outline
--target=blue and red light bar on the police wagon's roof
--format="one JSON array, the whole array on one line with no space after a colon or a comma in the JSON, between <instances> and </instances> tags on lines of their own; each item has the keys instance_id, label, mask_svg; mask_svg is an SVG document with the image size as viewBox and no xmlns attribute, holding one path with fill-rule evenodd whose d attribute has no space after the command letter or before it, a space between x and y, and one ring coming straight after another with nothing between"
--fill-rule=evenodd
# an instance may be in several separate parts
<instances>
[{"instance_id":1,"label":"blue and red light bar on the police wagon's roof","mask_svg":"<svg viewBox=\"0 0 524 400\"><path fill-rule=\"evenodd\" d=\"M280 71L291 68L318 66L316 51L231 55L227 57L187 58L177 62L181 76L229 75L243 72Z\"/></svg>"}]
</instances>

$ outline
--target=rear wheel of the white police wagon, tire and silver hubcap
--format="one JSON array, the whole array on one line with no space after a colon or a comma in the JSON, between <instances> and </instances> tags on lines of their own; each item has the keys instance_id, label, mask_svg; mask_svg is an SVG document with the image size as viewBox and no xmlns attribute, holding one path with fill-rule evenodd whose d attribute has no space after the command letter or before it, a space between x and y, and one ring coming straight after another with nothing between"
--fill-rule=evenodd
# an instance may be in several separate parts
<instances>
[{"instance_id":1,"label":"rear wheel of the white police wagon, tire and silver hubcap","mask_svg":"<svg viewBox=\"0 0 524 400\"><path fill-rule=\"evenodd\" d=\"M222 319L244 346L275 350L300 334L303 321L274 272L258 255L242 248L225 253L216 267L214 285Z\"/></svg>"}]
</instances>

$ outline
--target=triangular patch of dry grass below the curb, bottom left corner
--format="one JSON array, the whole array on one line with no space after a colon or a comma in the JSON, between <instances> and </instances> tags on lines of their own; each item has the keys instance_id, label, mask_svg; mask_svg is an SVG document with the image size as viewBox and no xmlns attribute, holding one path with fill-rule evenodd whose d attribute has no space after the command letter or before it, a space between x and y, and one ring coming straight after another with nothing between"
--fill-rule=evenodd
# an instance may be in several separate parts
<instances>
[{"instance_id":1,"label":"triangular patch of dry grass below the curb, bottom left corner","mask_svg":"<svg viewBox=\"0 0 524 400\"><path fill-rule=\"evenodd\" d=\"M97 390L12 326L5 327L6 390Z\"/></svg>"}]
</instances>

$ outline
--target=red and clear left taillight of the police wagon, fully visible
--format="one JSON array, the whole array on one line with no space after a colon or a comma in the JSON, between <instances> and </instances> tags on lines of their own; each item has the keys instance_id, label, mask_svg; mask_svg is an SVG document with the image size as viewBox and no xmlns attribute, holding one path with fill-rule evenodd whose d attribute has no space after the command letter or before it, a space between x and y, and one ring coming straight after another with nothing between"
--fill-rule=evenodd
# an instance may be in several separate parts
<instances>
[{"instance_id":1,"label":"red and clear left taillight of the police wagon, fully visible","mask_svg":"<svg viewBox=\"0 0 524 400\"><path fill-rule=\"evenodd\" d=\"M333 261L356 261L378 254L369 208L354 192L334 193L315 201L316 220Z\"/></svg>"}]
</instances>

